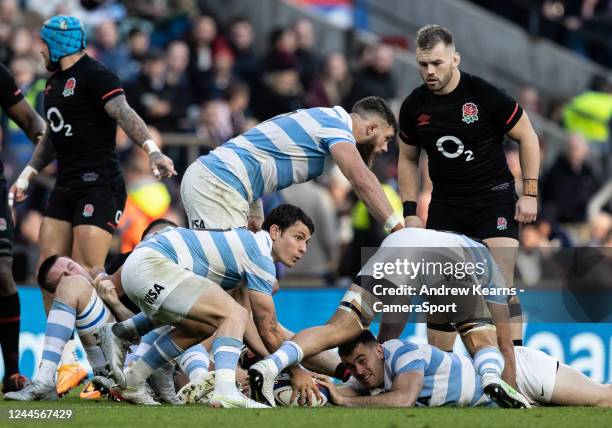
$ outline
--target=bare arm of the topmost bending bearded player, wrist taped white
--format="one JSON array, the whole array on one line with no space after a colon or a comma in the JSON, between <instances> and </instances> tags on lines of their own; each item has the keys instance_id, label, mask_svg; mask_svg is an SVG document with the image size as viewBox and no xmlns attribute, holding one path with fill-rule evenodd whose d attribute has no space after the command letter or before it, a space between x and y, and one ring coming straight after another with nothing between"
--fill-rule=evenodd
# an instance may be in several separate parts
<instances>
[{"instance_id":1,"label":"bare arm of the topmost bending bearded player, wrist taped white","mask_svg":"<svg viewBox=\"0 0 612 428\"><path fill-rule=\"evenodd\" d=\"M354 144L336 143L331 146L331 155L351 182L355 193L359 196L368 211L385 226L387 230L398 230L403 227L401 217L393 213L393 208L372 171L368 169Z\"/></svg>"}]
</instances>

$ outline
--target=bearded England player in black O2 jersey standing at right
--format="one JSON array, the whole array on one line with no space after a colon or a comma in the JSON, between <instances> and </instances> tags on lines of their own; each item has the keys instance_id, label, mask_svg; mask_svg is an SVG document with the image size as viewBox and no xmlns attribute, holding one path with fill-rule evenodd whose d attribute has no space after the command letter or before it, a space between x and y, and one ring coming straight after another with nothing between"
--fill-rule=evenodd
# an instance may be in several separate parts
<instances>
[{"instance_id":1,"label":"bearded England player in black O2 jersey standing at right","mask_svg":"<svg viewBox=\"0 0 612 428\"><path fill-rule=\"evenodd\" d=\"M417 32L416 45L424 84L404 100L400 110L404 144L400 144L398 169L405 224L423 226L416 216L418 161L423 148L433 182L427 228L482 239L504 271L507 284L513 285L519 223L532 222L537 214L537 135L515 100L459 70L459 53L447 29L423 27ZM523 195L518 199L502 148L504 135L520 145ZM509 303L515 321L513 338L520 344L520 304L518 299ZM430 344L452 349L454 332L445 326L429 327Z\"/></svg>"}]
</instances>

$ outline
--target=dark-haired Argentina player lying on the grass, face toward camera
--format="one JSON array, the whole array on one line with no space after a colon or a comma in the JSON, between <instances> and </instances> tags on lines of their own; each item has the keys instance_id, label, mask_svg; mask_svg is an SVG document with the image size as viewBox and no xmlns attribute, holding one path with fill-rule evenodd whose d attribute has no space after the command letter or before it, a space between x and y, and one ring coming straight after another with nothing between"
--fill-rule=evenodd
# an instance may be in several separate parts
<instances>
[{"instance_id":1,"label":"dark-haired Argentina player lying on the grass, face toward camera","mask_svg":"<svg viewBox=\"0 0 612 428\"><path fill-rule=\"evenodd\" d=\"M468 357L435 346L393 339L383 344L369 330L339 347L351 379L329 389L348 407L495 406ZM612 385L598 384L541 351L517 346L516 382L531 404L612 407Z\"/></svg>"}]
</instances>

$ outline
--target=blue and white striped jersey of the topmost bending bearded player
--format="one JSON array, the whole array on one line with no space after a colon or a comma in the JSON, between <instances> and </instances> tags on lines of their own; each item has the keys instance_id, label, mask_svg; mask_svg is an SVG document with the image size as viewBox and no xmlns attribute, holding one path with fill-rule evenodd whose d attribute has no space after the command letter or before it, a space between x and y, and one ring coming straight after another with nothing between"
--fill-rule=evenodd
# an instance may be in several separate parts
<instances>
[{"instance_id":1,"label":"blue and white striped jersey of the topmost bending bearded player","mask_svg":"<svg viewBox=\"0 0 612 428\"><path fill-rule=\"evenodd\" d=\"M356 144L352 129L342 107L297 110L260 123L198 161L251 203L329 170L331 146Z\"/></svg>"}]
</instances>

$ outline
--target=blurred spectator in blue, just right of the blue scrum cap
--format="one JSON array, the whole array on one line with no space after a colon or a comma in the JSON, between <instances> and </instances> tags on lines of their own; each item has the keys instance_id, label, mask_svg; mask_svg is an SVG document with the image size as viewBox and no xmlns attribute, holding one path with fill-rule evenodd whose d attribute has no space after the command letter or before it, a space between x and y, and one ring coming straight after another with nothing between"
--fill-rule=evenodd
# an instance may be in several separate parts
<instances>
[{"instance_id":1,"label":"blurred spectator in blue, just right of the blue scrum cap","mask_svg":"<svg viewBox=\"0 0 612 428\"><path fill-rule=\"evenodd\" d=\"M133 79L129 68L130 53L125 44L120 43L117 25L113 21L104 21L96 27L95 47L98 59L122 82Z\"/></svg>"}]
</instances>

